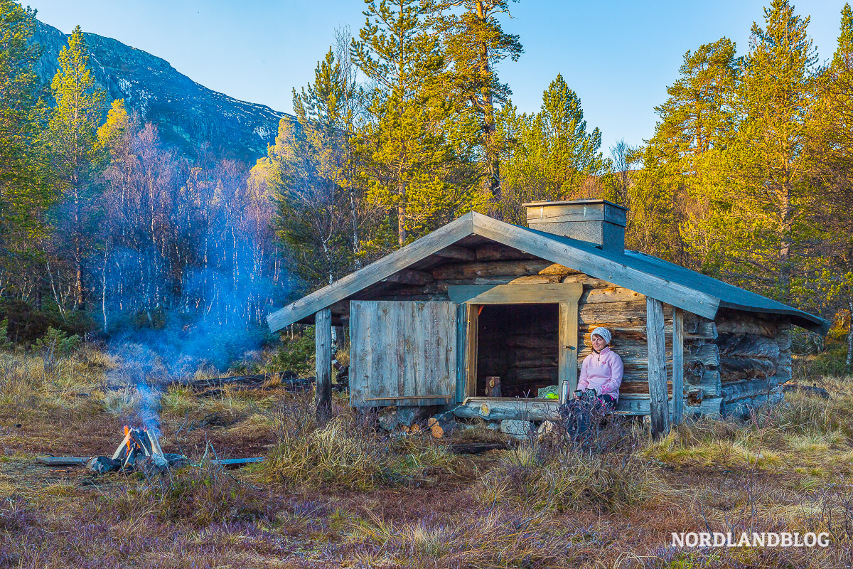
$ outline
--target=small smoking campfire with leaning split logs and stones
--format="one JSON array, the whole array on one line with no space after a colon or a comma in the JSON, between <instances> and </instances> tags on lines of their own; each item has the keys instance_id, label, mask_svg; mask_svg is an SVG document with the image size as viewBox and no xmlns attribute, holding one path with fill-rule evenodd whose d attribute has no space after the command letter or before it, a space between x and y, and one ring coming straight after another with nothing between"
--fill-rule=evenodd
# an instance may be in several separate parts
<instances>
[{"instance_id":1,"label":"small smoking campfire with leaning split logs and stones","mask_svg":"<svg viewBox=\"0 0 853 569\"><path fill-rule=\"evenodd\" d=\"M125 438L119 444L112 457L95 456L86 467L98 474L116 470L129 472L164 472L169 467L182 467L187 457L174 453L165 453L153 430L133 428L125 425Z\"/></svg>"}]
</instances>

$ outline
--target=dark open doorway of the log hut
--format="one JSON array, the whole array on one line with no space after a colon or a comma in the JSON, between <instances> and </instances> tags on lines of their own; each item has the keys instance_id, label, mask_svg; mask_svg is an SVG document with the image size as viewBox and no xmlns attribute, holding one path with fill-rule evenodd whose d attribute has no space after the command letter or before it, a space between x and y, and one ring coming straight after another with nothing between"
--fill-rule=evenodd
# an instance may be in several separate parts
<instances>
[{"instance_id":1,"label":"dark open doorway of the log hut","mask_svg":"<svg viewBox=\"0 0 853 569\"><path fill-rule=\"evenodd\" d=\"M477 396L493 396L489 377L500 377L502 398L536 398L556 386L560 305L481 305L477 330Z\"/></svg>"}]
</instances>

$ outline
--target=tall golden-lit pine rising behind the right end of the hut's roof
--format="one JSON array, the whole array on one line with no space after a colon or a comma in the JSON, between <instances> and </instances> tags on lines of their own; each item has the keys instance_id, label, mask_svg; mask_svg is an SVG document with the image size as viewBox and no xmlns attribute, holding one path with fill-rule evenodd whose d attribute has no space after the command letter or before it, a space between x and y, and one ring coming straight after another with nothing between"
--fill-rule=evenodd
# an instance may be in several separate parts
<instances>
[{"instance_id":1,"label":"tall golden-lit pine rising behind the right end of the hut's roof","mask_svg":"<svg viewBox=\"0 0 853 569\"><path fill-rule=\"evenodd\" d=\"M704 182L711 192L705 229L716 270L783 300L809 235L809 113L814 102L815 49L809 18L787 0L764 9L752 25L740 65L724 148L711 153Z\"/></svg>"}]
</instances>

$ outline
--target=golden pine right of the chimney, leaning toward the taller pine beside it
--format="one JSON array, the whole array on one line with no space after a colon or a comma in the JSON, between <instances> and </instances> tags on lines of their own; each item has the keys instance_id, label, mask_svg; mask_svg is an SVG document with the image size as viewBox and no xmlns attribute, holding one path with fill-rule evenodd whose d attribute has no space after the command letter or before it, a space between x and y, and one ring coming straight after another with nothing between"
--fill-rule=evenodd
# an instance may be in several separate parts
<instances>
[{"instance_id":1,"label":"golden pine right of the chimney, leaning toward the taller pine beside it","mask_svg":"<svg viewBox=\"0 0 853 569\"><path fill-rule=\"evenodd\" d=\"M643 167L625 204L630 206L626 238L643 252L695 266L694 258L706 255L699 222L707 195L699 172L707 153L734 131L734 43L722 38L688 51L679 73L666 90L666 102L655 107L660 119L641 149Z\"/></svg>"}]
</instances>

